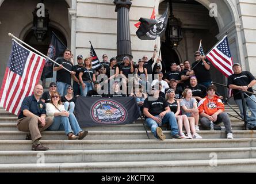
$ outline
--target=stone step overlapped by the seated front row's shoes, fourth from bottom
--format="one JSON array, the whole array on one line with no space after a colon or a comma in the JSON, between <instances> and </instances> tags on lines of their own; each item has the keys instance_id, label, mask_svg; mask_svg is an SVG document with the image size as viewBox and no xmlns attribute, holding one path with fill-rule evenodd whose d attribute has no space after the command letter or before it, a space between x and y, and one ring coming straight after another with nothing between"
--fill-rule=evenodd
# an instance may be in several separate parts
<instances>
[{"instance_id":1,"label":"stone step overlapped by the seated front row's shoes, fourth from bottom","mask_svg":"<svg viewBox=\"0 0 256 184\"><path fill-rule=\"evenodd\" d=\"M166 139L171 139L170 131L163 131ZM197 131L203 139L226 139L225 131ZM256 131L233 131L235 139L255 138ZM151 131L148 131L150 139L155 139ZM67 139L64 131L44 131L42 139L55 140ZM26 132L20 131L0 131L0 140L24 140ZM105 139L148 139L145 131L89 131L85 137L87 140Z\"/></svg>"}]
</instances>

